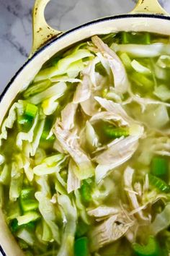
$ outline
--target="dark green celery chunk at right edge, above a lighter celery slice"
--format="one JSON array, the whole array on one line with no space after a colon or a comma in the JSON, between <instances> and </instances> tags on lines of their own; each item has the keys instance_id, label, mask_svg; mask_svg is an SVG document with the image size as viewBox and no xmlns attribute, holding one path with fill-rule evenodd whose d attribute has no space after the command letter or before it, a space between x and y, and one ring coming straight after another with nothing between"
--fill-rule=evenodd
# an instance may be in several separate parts
<instances>
[{"instance_id":1,"label":"dark green celery chunk at right edge, above a lighter celery slice","mask_svg":"<svg viewBox=\"0 0 170 256\"><path fill-rule=\"evenodd\" d=\"M151 173L155 176L166 176L169 171L168 161L160 156L155 156L151 162Z\"/></svg>"}]
</instances>

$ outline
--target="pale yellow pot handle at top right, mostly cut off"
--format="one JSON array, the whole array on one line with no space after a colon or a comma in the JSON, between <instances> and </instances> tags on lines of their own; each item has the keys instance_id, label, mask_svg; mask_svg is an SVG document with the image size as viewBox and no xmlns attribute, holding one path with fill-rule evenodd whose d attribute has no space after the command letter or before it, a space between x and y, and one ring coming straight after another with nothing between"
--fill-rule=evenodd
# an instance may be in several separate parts
<instances>
[{"instance_id":1,"label":"pale yellow pot handle at top right, mostly cut off","mask_svg":"<svg viewBox=\"0 0 170 256\"><path fill-rule=\"evenodd\" d=\"M158 0L138 0L138 4L136 5L135 9L133 9L133 11L130 13L169 15L169 13L166 12L158 3Z\"/></svg>"}]
</instances>

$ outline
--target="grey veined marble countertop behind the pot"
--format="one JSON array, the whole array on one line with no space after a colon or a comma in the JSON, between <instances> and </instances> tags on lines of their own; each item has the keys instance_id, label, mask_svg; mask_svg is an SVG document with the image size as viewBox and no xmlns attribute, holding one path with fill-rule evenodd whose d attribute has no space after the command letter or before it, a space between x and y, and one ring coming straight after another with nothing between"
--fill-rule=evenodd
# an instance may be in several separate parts
<instances>
[{"instance_id":1,"label":"grey veined marble countertop behind the pot","mask_svg":"<svg viewBox=\"0 0 170 256\"><path fill-rule=\"evenodd\" d=\"M160 0L170 12L169 0ZM34 0L0 0L0 93L24 64L32 44ZM51 0L45 10L52 27L68 30L99 17L130 12L135 0Z\"/></svg>"}]
</instances>

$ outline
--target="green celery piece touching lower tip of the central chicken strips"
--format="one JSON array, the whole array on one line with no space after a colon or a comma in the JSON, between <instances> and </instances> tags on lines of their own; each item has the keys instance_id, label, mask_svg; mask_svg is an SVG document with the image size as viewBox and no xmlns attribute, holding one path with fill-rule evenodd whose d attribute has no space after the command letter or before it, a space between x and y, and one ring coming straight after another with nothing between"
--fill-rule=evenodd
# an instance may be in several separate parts
<instances>
[{"instance_id":1,"label":"green celery piece touching lower tip of the central chicken strips","mask_svg":"<svg viewBox=\"0 0 170 256\"><path fill-rule=\"evenodd\" d=\"M84 179L80 188L81 198L86 204L89 204L89 202L91 202L92 184L93 182L91 179Z\"/></svg>"}]
</instances>

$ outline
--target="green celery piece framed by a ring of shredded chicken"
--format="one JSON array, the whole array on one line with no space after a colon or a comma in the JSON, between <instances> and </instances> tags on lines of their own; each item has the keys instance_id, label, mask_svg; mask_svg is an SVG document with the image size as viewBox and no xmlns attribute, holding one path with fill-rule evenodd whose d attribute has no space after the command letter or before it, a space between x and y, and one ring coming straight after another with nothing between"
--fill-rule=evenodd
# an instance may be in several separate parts
<instances>
[{"instance_id":1,"label":"green celery piece framed by a ring of shredded chicken","mask_svg":"<svg viewBox=\"0 0 170 256\"><path fill-rule=\"evenodd\" d=\"M129 129L127 128L116 128L109 124L103 126L104 135L109 138L127 137L129 135Z\"/></svg>"}]
</instances>

